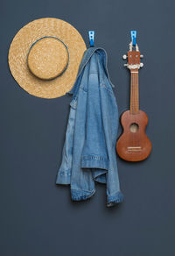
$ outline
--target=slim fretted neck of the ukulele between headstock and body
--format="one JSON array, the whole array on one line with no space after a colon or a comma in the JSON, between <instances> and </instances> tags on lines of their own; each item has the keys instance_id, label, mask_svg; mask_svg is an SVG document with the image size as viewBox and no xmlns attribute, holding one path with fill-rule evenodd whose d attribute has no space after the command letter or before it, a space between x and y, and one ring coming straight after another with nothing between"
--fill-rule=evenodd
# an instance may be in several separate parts
<instances>
[{"instance_id":1,"label":"slim fretted neck of the ukulele between headstock and body","mask_svg":"<svg viewBox=\"0 0 175 256\"><path fill-rule=\"evenodd\" d=\"M139 113L138 69L130 70L130 114Z\"/></svg>"}]
</instances>

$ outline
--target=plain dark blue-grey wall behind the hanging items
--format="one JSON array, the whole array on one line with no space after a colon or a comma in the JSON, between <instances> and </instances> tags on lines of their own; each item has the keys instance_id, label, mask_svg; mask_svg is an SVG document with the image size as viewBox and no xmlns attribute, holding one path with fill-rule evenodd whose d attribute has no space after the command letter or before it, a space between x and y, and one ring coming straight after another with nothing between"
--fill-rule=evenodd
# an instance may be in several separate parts
<instances>
[{"instance_id":1,"label":"plain dark blue-grey wall behind the hanging items","mask_svg":"<svg viewBox=\"0 0 175 256\"><path fill-rule=\"evenodd\" d=\"M2 0L0 11L0 255L173 256L175 216L175 2L171 0ZM55 185L70 96L30 96L11 76L7 54L18 30L36 18L61 18L88 45L109 54L120 113L129 108L130 75L123 53L136 29L144 68L140 107L150 121L148 160L118 159L125 201L107 209L105 187L85 203ZM121 130L119 131L121 132Z\"/></svg>"}]
</instances>

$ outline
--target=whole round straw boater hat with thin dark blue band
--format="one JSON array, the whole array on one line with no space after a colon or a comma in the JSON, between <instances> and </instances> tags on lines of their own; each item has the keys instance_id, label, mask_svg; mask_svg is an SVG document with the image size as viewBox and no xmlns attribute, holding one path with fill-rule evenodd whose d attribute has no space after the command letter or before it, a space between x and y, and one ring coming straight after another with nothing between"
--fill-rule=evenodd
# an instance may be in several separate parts
<instances>
[{"instance_id":1,"label":"whole round straw boater hat with thin dark blue band","mask_svg":"<svg viewBox=\"0 0 175 256\"><path fill-rule=\"evenodd\" d=\"M63 96L73 87L85 50L73 25L58 18L39 18L21 28L12 40L11 74L33 96Z\"/></svg>"}]
</instances>

